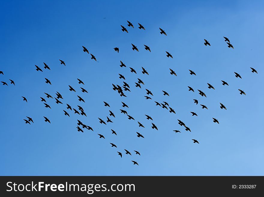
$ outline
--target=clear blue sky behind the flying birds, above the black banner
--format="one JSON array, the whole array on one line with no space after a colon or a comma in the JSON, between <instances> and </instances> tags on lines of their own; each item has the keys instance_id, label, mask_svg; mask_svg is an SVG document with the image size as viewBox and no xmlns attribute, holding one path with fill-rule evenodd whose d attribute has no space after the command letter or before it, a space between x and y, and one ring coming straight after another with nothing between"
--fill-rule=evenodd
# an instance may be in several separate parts
<instances>
[{"instance_id":1,"label":"clear blue sky behind the flying birds, above the black banner","mask_svg":"<svg viewBox=\"0 0 264 197\"><path fill-rule=\"evenodd\" d=\"M0 85L0 175L264 175L263 6L263 1L1 1L0 70L4 75L0 81L8 86ZM126 20L135 28L128 27ZM138 28L138 22L146 31ZM122 32L120 25L129 33ZM159 33L159 27L167 36ZM234 49L227 47L223 36ZM211 46L205 46L203 39ZM131 43L139 52L131 49ZM82 45L98 62L82 51ZM114 47L119 47L119 53ZM120 60L126 68L119 66ZM43 62L51 70L45 70ZM35 64L44 72L37 72ZM141 66L149 76L141 73ZM169 68L178 76L170 75ZM112 83L123 83L118 73L130 85L126 98L112 89ZM137 78L145 83L142 89L135 87ZM208 89L207 82L215 90ZM70 92L68 85L77 92ZM145 100L145 88L152 91L152 100ZM240 95L238 89L247 95ZM55 97L56 91L62 94L63 105L47 99L52 109L45 108L40 97L45 97L44 92ZM208 110L196 106L193 99ZM120 113L121 101L135 121ZM176 114L155 106L154 101L167 101ZM220 102L227 110L220 109ZM66 103L76 109L81 105L87 117L69 110L70 117L65 116ZM108 110L116 115L111 117L114 123L100 124L98 117L106 121ZM34 124L25 124L26 116ZM43 116L52 124L44 122ZM94 132L78 132L77 119ZM137 121L145 128L138 127ZM151 128L152 122L158 131ZM136 131L145 139L138 138Z\"/></svg>"}]
</instances>

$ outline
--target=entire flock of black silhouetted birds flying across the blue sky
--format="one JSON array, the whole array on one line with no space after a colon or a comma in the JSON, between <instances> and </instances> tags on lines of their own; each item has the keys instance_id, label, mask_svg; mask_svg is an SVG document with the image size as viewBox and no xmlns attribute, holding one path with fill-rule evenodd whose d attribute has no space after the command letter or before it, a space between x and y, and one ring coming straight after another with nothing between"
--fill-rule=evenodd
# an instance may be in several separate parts
<instances>
[{"instance_id":1,"label":"entire flock of black silhouetted birds flying across the blue sky","mask_svg":"<svg viewBox=\"0 0 264 197\"><path fill-rule=\"evenodd\" d=\"M134 25L133 25L131 22L129 22L129 21L127 21L127 22L128 22L128 24L127 24L128 27L134 28ZM140 23L138 23L138 25L139 25L138 28L139 28L140 30L146 30L146 29L144 28L144 26L141 25ZM121 30L122 30L123 32L128 33L127 28L125 28L123 25L121 25L121 27L122 27ZM161 34L167 36L167 33L166 33L162 28L159 28L159 29L160 29L160 33L161 33ZM228 47L234 49L234 47L233 47L233 45L230 43L229 39L228 39L227 37L223 37L223 38L225 39L224 41L227 43ZM208 46L211 46L211 44L208 42L208 40L204 39L204 41L205 41L205 42L204 42L204 45L205 45L205 46L207 46L207 47L208 47ZM139 52L139 49L137 48L137 46L135 46L135 45L132 44L132 43L131 43L131 45L132 45L132 49L133 49L133 51L136 50L137 52ZM91 53L89 53L88 49L87 49L85 46L82 46L82 48L83 48L83 52L85 52L85 53L91 55L91 59L92 59L92 60L97 61L96 58L95 58L95 56L92 55ZM149 46L147 46L147 45L144 44L144 48L145 48L147 51L151 52L151 49L150 49ZM118 48L118 47L114 47L113 49L114 49L117 53L119 53L119 48ZM168 58L173 58L172 54L170 54L170 53L167 52L167 51L165 51L165 52L166 52L166 54L167 54L166 56L167 56ZM60 61L60 64L61 64L61 65L63 64L64 66L66 66L66 64L65 64L64 61L62 61L62 60L60 60L60 59L59 59L59 61ZM44 62L43 62L43 63L44 63ZM120 61L120 67L126 67L126 65L125 65L122 61ZM129 68L130 68L131 73L135 73L135 74L137 74L137 71L136 71L134 68L132 68L132 67L129 67ZM50 67L49 67L46 63L44 63L44 69L45 69L45 70L51 70ZM250 67L250 69L251 69L251 72L252 72L252 73L257 73L257 71L256 71L254 68ZM35 65L35 70L38 71L38 72L43 72L43 70L42 70L40 67L38 67L37 65ZM192 71L192 70L189 70L189 71L190 71L190 75L195 75L195 76L196 76L196 73L195 73L194 71ZM143 68L143 67L142 67L142 71L141 71L141 72L142 72L144 75L145 75L145 74L146 74L146 75L149 75L148 71L147 71L145 68ZM242 77L241 77L241 75L240 75L239 73L236 73L236 72L234 72L234 73L235 73L235 77L236 77L236 78L240 78L240 79L242 79ZM0 75L1 75L1 74L4 75L3 71L0 71ZM171 74L171 75L174 75L174 76L177 76L176 72L175 72L174 70L172 70L172 69L170 69L170 74ZM127 96L125 95L125 91L129 91L129 92L130 92L130 85L129 85L127 82L125 82L125 80L126 80L126 79L125 79L125 76L123 76L122 74L119 74L119 78L124 80L124 81L123 81L123 84L122 84L122 85L118 85L118 84L115 85L115 84L112 84L112 85L113 85L113 90L114 90L114 91L117 91L118 94L119 94L121 97L127 97ZM45 79L45 83L47 83L47 84L49 84L49 85L52 85L52 83L51 83L51 81L50 81L49 79L47 79L47 78L44 78L44 79ZM138 79L138 81L137 81L137 82L134 82L134 83L136 84L135 87L137 87L137 88L142 88L142 85L145 85L144 82L143 82L143 80L141 80L141 79L139 79L139 78L137 78L137 79ZM9 79L9 80L10 80L10 84L11 84L11 85L15 85L15 82L14 82L12 79ZM79 85L84 85L84 82L83 82L81 79L78 79L78 78L77 78L77 82L78 82ZM8 86L7 82L1 81L1 83L2 83L3 85ZM215 90L215 88L213 87L213 85L211 85L211 84L209 84L209 83L207 83L207 84L208 84L208 88L209 88L209 89L213 89L213 90ZM222 85L227 85L227 86L228 86L228 83L222 80ZM68 86L69 86L69 91L76 92L76 90L75 90L71 85L68 85ZM193 89L192 87L190 87L190 86L187 86L187 87L189 88L188 91L193 91L193 92L195 92L194 89ZM81 89L82 93L88 93L88 91L87 91L85 88L80 87L80 89ZM144 96L145 99L147 99L147 100L152 100L152 96L153 96L152 91L150 91L150 90L147 89L147 88L145 88L145 89L146 89L146 94L147 94L147 96ZM198 91L199 95L201 95L202 97L206 97L206 94L205 94L202 90L197 90L197 91ZM240 93L241 95L242 95L242 94L246 95L246 93L245 93L243 90L238 89L238 91L239 91L239 93ZM62 103L61 101L62 101L64 98L62 97L62 95L61 95L58 91L55 93L56 96L54 96L54 97L52 97L50 94L48 94L48 93L46 93L46 92L44 92L44 94L45 94L46 98L44 98L45 96L40 96L40 98L41 98L41 102L44 103L44 107L45 107L45 108L49 108L49 109L51 109L50 105L49 105L48 102L47 102L48 99L49 99L49 100L50 100L50 99L54 99L55 102L56 102L57 104L62 104L62 105L63 105L63 103ZM167 91L165 91L165 90L162 90L162 94L163 94L164 96L170 96L169 93L168 93ZM76 95L76 96L77 96L78 100L80 101L80 103L81 103L81 102L84 102L84 103L85 103L85 100L84 100L81 96L79 96L79 95ZM23 99L23 101L28 102L28 100L27 100L26 97L22 96L22 99ZM197 99L193 99L193 101L194 101L194 103L195 103L196 105L198 105L199 101L198 101ZM119 110L120 110L120 113L126 115L126 116L128 117L129 120L135 120L135 119L134 119L131 115L129 115L128 112L125 110L125 108L129 108L128 105L127 105L126 103L124 103L123 101L122 101L121 103L122 103L122 109L119 109ZM157 101L155 101L155 105L156 105L156 106L160 106L160 107L163 108L163 109L167 109L167 110L169 110L170 113L174 113L174 114L176 114L175 110L169 105L169 103L167 103L167 102L165 102L165 101L163 101L163 102L157 102ZM70 106L68 103L66 103L66 106L67 106L66 109L63 110L65 116L70 117L70 114L69 114L70 111L73 111L73 114L78 114L78 115L86 116L85 111L84 111L84 109L83 109L82 106L77 105L77 107L76 107L77 109L73 108L73 107ZM110 104L107 103L107 102L105 102L105 101L104 101L104 106L110 108ZM202 106L202 109L208 109L207 106L205 106L204 104L200 104L200 106ZM220 103L220 109L225 109L225 110L227 110L226 107L225 107L222 103ZM198 116L195 112L190 112L190 113L191 113L192 116ZM156 130L158 130L158 127L153 123L153 119L152 119L152 117L149 116L149 115L145 115L145 116L146 116L146 119L147 119L147 120L150 120L150 121L151 121L151 124L152 124L151 128L152 128L152 129L156 129ZM43 116L43 117L44 117L44 121L45 121L46 123L51 124L51 121L49 120L49 118L47 118L47 117L45 117L45 116ZM109 110L109 117L108 117L108 116L106 117L107 120L104 121L102 118L99 118L99 117L98 117L99 123L101 123L101 124L105 124L105 125L107 125L107 124L109 124L109 123L113 123L113 121L110 119L111 117L115 118L116 116L115 116L115 114L114 114L111 110ZM219 124L219 121L218 121L216 118L212 117L212 119L213 119L212 121L213 121L214 123ZM32 119L31 117L28 117L28 116L26 116L26 119L23 119L23 120L25 121L26 124L34 123L33 119ZM137 121L137 123L138 123L138 126L139 126L139 127L145 128L145 126L144 126L143 124L141 124L139 121ZM186 124L185 124L183 121L181 121L181 120L178 119L178 124L179 124L180 126L183 126L183 127L185 128L186 131L190 131L190 132L191 132L190 128L187 127ZM82 133L84 132L84 129L94 131L93 128L92 128L91 126L88 126L88 125L82 123L82 122L79 121L79 120L77 120L77 127L76 127L76 129L77 129L78 132L82 132ZM116 131L114 131L113 129L111 129L111 131L112 131L112 134L117 135ZM179 130L173 130L173 131L174 131L175 133L181 133L181 131L179 131ZM141 137L141 138L144 138L144 136L143 136L141 133L137 132L137 131L136 131L136 135L137 135L137 137L139 137L139 138L140 138L140 137ZM101 138L101 139L102 139L102 138L105 139L104 135L102 135L102 134L99 134L99 133L98 133L98 136L99 136L99 138ZM199 142L198 142L197 139L191 139L191 140L193 140L193 143L198 143L198 144L199 144ZM112 142L110 142L110 145L111 145L111 147L113 147L113 148L117 148L117 145L115 145L115 144L112 143ZM131 152L130 152L130 151L128 151L128 150L126 150L126 149L124 149L124 150L125 150L125 154L126 154L126 155L131 155ZM134 150L134 152L135 152L136 155L139 155L139 156L140 156L140 152L139 152L139 151ZM117 151L117 154L122 158L122 152ZM133 162L134 165L139 165L139 164L137 163L137 161L134 161L134 160L131 160L131 161Z\"/></svg>"}]
</instances>

